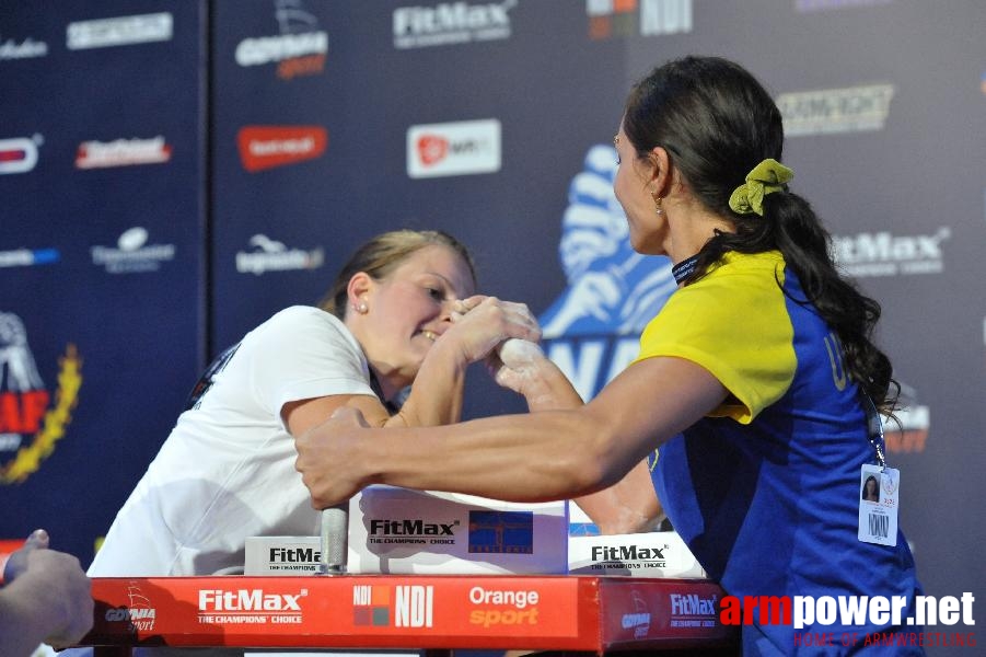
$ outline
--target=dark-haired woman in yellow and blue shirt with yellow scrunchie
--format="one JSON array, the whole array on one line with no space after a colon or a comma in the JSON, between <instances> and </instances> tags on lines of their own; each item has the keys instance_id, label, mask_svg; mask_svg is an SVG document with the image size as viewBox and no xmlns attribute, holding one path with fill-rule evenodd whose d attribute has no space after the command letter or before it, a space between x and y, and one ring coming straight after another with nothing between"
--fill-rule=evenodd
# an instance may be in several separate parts
<instances>
[{"instance_id":1,"label":"dark-haired woman in yellow and blue shirt with yellow scrunchie","mask_svg":"<svg viewBox=\"0 0 986 657\"><path fill-rule=\"evenodd\" d=\"M634 87L615 141L631 244L669 255L680 283L638 358L584 405L559 387L556 407L567 399L569 410L396 431L339 413L299 442L314 503L379 482L571 497L617 482L657 449L664 510L728 593L904 601L896 620L747 625L744 654L796 654L803 632L859 638L832 653L921 654L863 643L917 632L895 625L919 591L903 535L893 546L857 538L861 468L878 459L866 410L889 412L895 382L871 341L879 306L839 277L826 231L788 187L777 106L740 66L687 57Z\"/></svg>"}]
</instances>

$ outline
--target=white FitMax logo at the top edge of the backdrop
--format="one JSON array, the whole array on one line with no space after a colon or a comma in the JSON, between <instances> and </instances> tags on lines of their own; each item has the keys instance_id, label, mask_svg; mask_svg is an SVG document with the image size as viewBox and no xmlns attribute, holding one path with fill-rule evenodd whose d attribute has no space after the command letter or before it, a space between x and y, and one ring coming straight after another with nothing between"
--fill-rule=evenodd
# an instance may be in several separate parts
<instances>
[{"instance_id":1,"label":"white FitMax logo at the top edge of the backdrop","mask_svg":"<svg viewBox=\"0 0 986 657\"><path fill-rule=\"evenodd\" d=\"M510 38L517 0L440 2L394 10L395 48L426 48Z\"/></svg>"}]
</instances>

